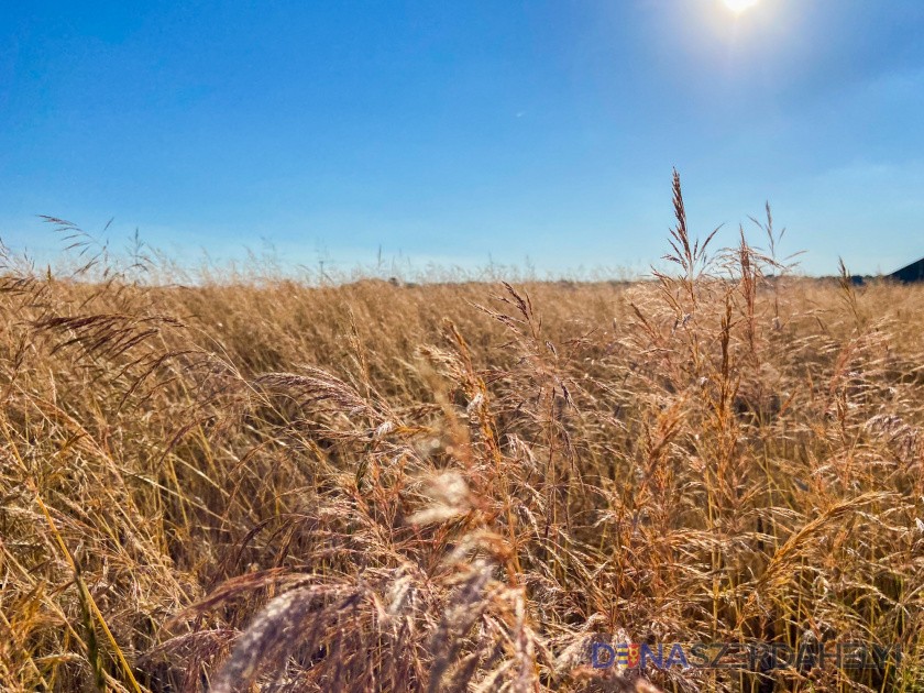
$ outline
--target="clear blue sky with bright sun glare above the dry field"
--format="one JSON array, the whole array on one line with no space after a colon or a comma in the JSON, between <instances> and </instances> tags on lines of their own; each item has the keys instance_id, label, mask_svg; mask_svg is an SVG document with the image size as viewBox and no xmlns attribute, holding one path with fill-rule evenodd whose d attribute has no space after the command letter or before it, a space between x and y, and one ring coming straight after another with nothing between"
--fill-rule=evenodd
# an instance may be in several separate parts
<instances>
[{"instance_id":1,"label":"clear blue sky with bright sun glare above the dry field","mask_svg":"<svg viewBox=\"0 0 924 693\"><path fill-rule=\"evenodd\" d=\"M924 255L924 2L6 2L0 238L645 268L770 201L805 272Z\"/></svg>"}]
</instances>

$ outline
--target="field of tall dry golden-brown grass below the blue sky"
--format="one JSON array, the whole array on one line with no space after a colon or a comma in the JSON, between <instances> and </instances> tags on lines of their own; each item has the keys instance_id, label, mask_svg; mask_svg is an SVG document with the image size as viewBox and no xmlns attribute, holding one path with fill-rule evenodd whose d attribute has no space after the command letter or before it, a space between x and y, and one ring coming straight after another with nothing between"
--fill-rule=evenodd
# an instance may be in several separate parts
<instances>
[{"instance_id":1,"label":"field of tall dry golden-brown grass below the blue sky","mask_svg":"<svg viewBox=\"0 0 924 693\"><path fill-rule=\"evenodd\" d=\"M911 691L924 289L707 257L634 284L0 289L4 691ZM900 669L593 670L595 641L901 642Z\"/></svg>"}]
</instances>

